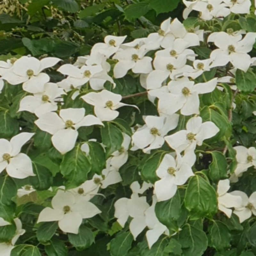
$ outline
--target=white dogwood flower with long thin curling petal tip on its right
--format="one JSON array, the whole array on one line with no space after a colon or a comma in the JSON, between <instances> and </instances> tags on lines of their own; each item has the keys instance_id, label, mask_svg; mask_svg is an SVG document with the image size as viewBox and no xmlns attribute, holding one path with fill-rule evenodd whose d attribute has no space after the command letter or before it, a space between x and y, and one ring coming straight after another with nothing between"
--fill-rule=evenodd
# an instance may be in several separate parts
<instances>
[{"instance_id":1,"label":"white dogwood flower with long thin curling petal tip on its right","mask_svg":"<svg viewBox=\"0 0 256 256\"><path fill-rule=\"evenodd\" d=\"M122 100L122 96L108 90L102 90L101 92L89 92L81 98L88 104L94 106L95 116L100 118L101 121L114 120L119 115L119 112L116 111L117 108L121 108L123 106L137 108L134 105L120 102Z\"/></svg>"}]
</instances>

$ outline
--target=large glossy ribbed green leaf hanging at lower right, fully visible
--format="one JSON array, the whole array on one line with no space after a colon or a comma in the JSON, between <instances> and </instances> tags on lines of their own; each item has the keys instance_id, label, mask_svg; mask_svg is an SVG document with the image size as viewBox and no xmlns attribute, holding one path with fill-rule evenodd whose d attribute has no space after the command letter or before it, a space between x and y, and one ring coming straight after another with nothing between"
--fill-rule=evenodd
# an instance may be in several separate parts
<instances>
[{"instance_id":1,"label":"large glossy ribbed green leaf hanging at lower right, fully visible","mask_svg":"<svg viewBox=\"0 0 256 256\"><path fill-rule=\"evenodd\" d=\"M211 200L209 200L211 198ZM202 177L195 175L188 183L185 194L185 206L191 219L212 218L217 212L218 202L214 188Z\"/></svg>"}]
</instances>

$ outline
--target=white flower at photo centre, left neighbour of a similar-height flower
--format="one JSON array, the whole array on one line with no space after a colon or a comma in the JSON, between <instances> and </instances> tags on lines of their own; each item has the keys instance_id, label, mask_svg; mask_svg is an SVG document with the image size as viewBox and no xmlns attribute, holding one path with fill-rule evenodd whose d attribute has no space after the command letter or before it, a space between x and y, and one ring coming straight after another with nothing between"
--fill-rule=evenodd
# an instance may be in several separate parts
<instances>
[{"instance_id":1,"label":"white flower at photo centre, left neighbour of a similar-height flower","mask_svg":"<svg viewBox=\"0 0 256 256\"><path fill-rule=\"evenodd\" d=\"M144 153L151 149L161 148L164 144L164 135L175 129L178 125L179 115L172 116L143 116L145 125L132 135L132 142Z\"/></svg>"}]
</instances>

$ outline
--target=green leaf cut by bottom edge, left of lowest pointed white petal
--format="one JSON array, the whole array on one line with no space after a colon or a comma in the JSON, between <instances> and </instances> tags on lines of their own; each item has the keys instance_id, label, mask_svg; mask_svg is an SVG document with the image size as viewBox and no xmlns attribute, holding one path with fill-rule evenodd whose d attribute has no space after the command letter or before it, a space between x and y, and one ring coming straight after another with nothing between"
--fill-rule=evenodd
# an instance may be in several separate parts
<instances>
[{"instance_id":1,"label":"green leaf cut by bottom edge, left of lowest pointed white petal","mask_svg":"<svg viewBox=\"0 0 256 256\"><path fill-rule=\"evenodd\" d=\"M124 256L132 246L133 236L131 232L124 232L117 235L110 242L111 256Z\"/></svg>"}]
</instances>

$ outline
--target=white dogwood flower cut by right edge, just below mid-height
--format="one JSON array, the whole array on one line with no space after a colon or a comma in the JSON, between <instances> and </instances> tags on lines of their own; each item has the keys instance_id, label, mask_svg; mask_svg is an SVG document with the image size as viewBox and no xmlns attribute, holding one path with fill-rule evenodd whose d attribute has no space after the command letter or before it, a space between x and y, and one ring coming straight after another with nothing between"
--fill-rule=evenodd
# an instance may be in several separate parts
<instances>
[{"instance_id":1,"label":"white dogwood flower cut by right edge, just below mid-height","mask_svg":"<svg viewBox=\"0 0 256 256\"><path fill-rule=\"evenodd\" d=\"M256 148L245 148L244 146L234 147L236 150L237 166L235 169L236 176L245 172L249 167L256 166Z\"/></svg>"}]
</instances>

